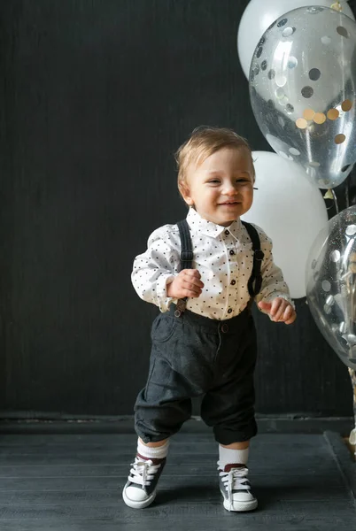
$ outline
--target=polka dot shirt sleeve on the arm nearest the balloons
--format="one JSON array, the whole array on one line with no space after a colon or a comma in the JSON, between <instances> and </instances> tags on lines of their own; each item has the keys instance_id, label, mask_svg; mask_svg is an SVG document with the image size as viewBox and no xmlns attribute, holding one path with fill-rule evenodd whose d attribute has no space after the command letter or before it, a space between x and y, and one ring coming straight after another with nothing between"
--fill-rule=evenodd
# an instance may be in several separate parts
<instances>
[{"instance_id":1,"label":"polka dot shirt sleeve on the arm nearest the balloons","mask_svg":"<svg viewBox=\"0 0 356 531\"><path fill-rule=\"evenodd\" d=\"M284 281L282 270L280 267L276 266L274 262L272 240L268 238L261 228L256 227L256 229L259 233L261 250L265 255L261 267L262 286L259 294L255 297L256 303L259 303L260 301L271 303L277 296L280 296L294 307L290 298L290 289ZM263 310L260 311L263 312Z\"/></svg>"}]
</instances>

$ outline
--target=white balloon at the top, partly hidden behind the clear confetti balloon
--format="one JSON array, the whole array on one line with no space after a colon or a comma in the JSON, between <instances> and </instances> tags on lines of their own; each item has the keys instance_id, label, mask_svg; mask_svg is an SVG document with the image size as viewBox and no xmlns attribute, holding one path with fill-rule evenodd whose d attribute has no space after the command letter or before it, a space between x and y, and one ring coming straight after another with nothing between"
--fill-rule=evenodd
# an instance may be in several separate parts
<instances>
[{"instance_id":1,"label":"white balloon at the top, partly hidden behind the clear confetti balloon","mask_svg":"<svg viewBox=\"0 0 356 531\"><path fill-rule=\"evenodd\" d=\"M249 79L253 52L261 36L285 12L307 5L330 7L332 0L251 0L244 10L237 32L237 51L244 75ZM350 6L341 2L343 13L354 19Z\"/></svg>"}]
</instances>

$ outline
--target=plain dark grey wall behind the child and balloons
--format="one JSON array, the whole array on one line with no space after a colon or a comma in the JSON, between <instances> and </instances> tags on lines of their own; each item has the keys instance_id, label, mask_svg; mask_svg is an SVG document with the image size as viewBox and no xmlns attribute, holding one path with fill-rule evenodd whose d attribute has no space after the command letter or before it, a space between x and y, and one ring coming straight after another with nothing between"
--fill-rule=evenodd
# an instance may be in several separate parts
<instances>
[{"instance_id":1,"label":"plain dark grey wall behind the child and balloons","mask_svg":"<svg viewBox=\"0 0 356 531\"><path fill-rule=\"evenodd\" d=\"M174 150L200 124L270 150L236 53L246 4L2 0L3 415L132 412L156 309L130 272L185 215ZM257 409L351 415L347 370L297 307L294 327L257 316Z\"/></svg>"}]
</instances>

